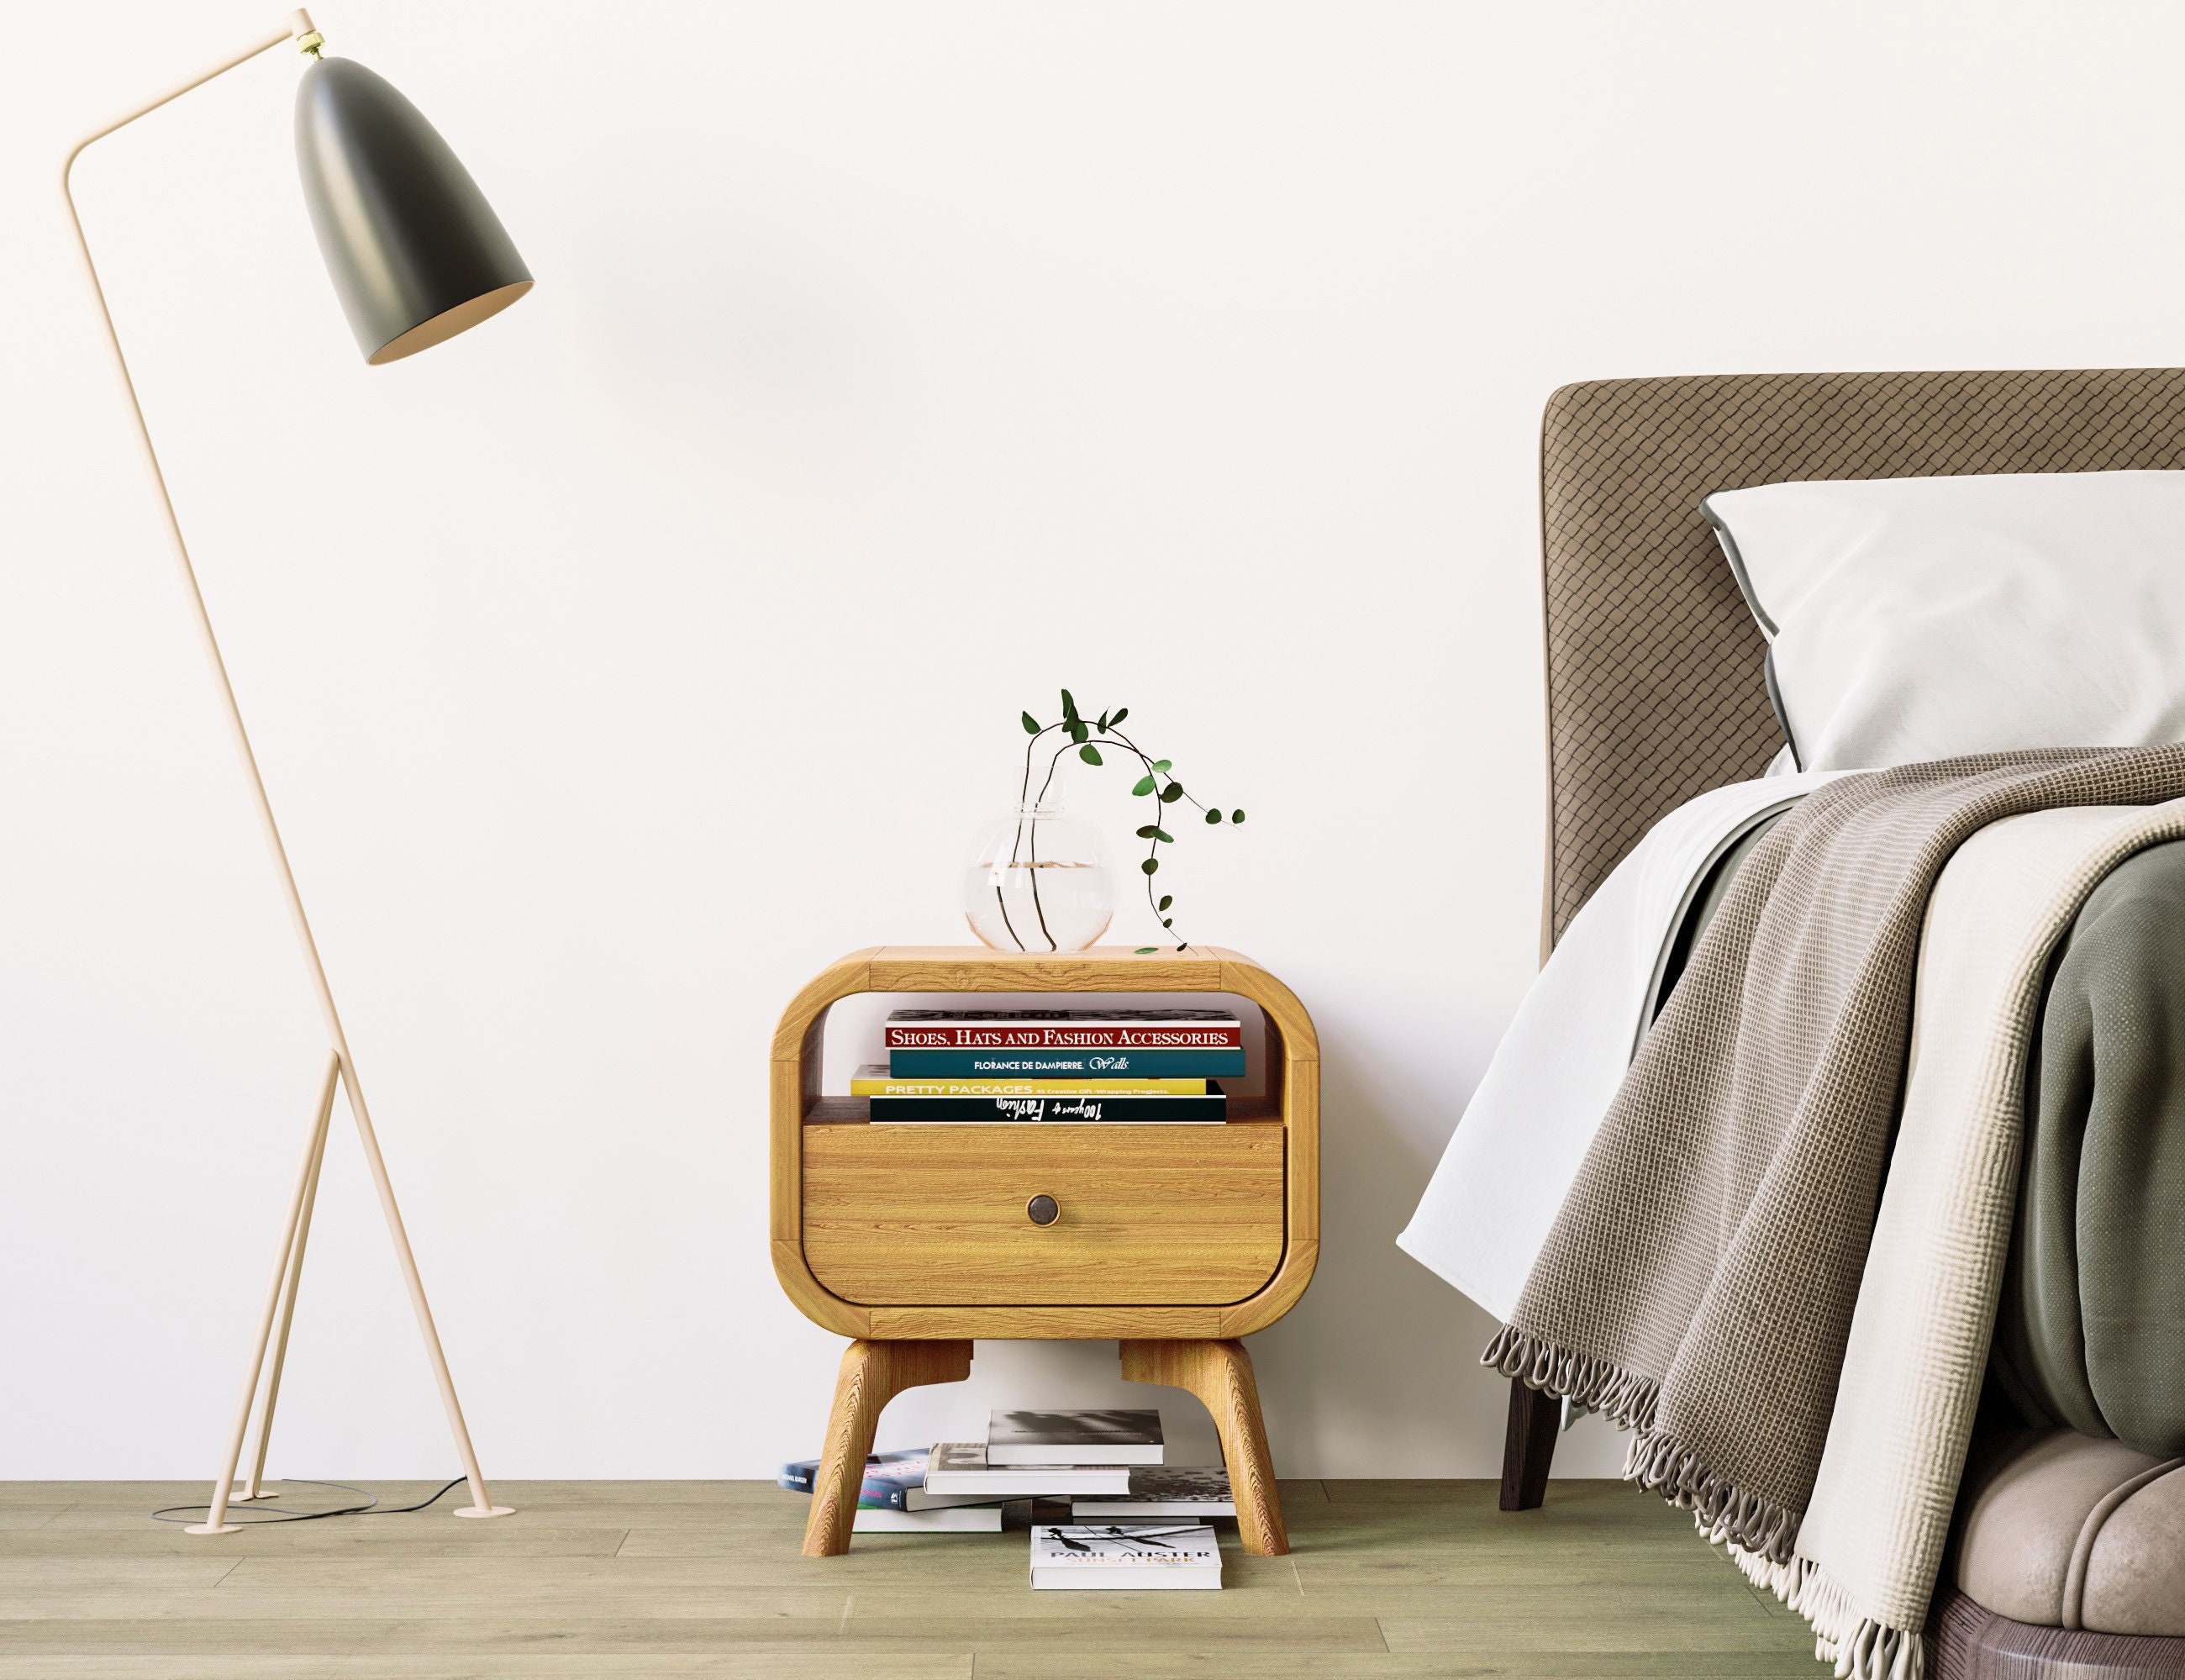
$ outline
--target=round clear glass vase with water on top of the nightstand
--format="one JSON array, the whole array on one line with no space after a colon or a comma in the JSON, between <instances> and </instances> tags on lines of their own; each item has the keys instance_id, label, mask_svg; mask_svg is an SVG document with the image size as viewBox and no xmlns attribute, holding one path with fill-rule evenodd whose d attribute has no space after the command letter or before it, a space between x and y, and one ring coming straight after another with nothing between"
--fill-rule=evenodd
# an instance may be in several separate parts
<instances>
[{"instance_id":1,"label":"round clear glass vase with water on top of the nightstand","mask_svg":"<svg viewBox=\"0 0 2185 1680\"><path fill-rule=\"evenodd\" d=\"M1020 804L970 848L964 920L994 950L1084 950L1114 920L1108 850L1060 804Z\"/></svg>"}]
</instances>

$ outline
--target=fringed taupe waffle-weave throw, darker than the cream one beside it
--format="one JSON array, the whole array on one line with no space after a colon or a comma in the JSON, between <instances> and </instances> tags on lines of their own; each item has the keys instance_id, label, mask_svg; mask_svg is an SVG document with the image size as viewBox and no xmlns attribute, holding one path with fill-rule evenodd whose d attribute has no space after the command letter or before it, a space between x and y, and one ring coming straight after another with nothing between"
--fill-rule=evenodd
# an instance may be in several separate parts
<instances>
[{"instance_id":1,"label":"fringed taupe waffle-weave throw, darker than the cream one beside it","mask_svg":"<svg viewBox=\"0 0 2185 1680\"><path fill-rule=\"evenodd\" d=\"M1486 1363L1630 1429L1630 1477L1790 1569L1942 865L2004 817L2181 795L2185 747L1958 758L1807 795L1733 880Z\"/></svg>"}]
</instances>

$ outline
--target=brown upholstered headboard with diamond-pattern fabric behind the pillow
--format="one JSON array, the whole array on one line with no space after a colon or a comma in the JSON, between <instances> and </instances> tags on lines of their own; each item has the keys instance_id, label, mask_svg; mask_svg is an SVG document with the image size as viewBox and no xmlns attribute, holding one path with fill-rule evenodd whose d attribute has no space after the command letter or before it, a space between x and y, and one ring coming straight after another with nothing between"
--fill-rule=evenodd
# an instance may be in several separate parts
<instances>
[{"instance_id":1,"label":"brown upholstered headboard with diamond-pattern fabric behind the pillow","mask_svg":"<svg viewBox=\"0 0 2185 1680\"><path fill-rule=\"evenodd\" d=\"M1700 520L1792 478L2185 468L2185 369L1731 374L1547 400L1547 902L1562 937L1667 811L1759 776L1783 734L1761 636Z\"/></svg>"}]
</instances>

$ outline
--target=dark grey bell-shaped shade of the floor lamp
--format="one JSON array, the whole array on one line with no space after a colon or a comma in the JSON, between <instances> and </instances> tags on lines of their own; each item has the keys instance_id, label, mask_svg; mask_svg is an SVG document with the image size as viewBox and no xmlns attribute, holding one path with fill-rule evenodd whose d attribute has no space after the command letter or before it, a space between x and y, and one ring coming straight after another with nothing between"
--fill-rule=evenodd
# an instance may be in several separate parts
<instances>
[{"instance_id":1,"label":"dark grey bell-shaped shade of the floor lamp","mask_svg":"<svg viewBox=\"0 0 2185 1680\"><path fill-rule=\"evenodd\" d=\"M531 271L424 114L354 59L295 96L295 162L319 251L365 360L402 360L498 315Z\"/></svg>"}]
</instances>

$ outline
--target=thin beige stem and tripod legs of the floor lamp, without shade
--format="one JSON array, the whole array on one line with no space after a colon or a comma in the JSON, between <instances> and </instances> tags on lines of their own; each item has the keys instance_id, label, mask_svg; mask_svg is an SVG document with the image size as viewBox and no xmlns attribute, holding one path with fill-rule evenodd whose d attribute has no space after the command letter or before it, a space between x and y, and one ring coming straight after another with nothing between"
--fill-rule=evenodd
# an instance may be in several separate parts
<instances>
[{"instance_id":1,"label":"thin beige stem and tripod legs of the floor lamp, without shade","mask_svg":"<svg viewBox=\"0 0 2185 1680\"><path fill-rule=\"evenodd\" d=\"M267 1309L258 1326L258 1344L251 1354L249 1379L243 1385L243 1405L236 1409L236 1422L229 1431L227 1455L221 1464L221 1477L212 1486L212 1510L208 1521L190 1527L190 1534L238 1534L240 1525L227 1523L227 1501L234 1496L236 1466L243 1462L243 1435L249 1424L251 1400L258 1394L258 1379L264 1368L267 1341L273 1330L275 1313L280 1315L280 1346L286 1352L288 1346L288 1315L295 1309L295 1289L302 1282L304 1267L304 1237L310 1230L310 1206L319 1186L319 1160L326 1149L326 1123L332 1114L334 1081L339 1077L343 1092L350 1099L350 1116L356 1121L356 1136L365 1149L365 1164L371 1169L371 1184L380 1195L380 1212L387 1215L387 1234L393 1239L395 1261L402 1265L402 1282L409 1287L411 1309L417 1313L417 1330L424 1337L426 1359L433 1363L433 1379L439 1383L439 1398L448 1411L448 1431L454 1435L454 1451L463 1462L463 1477L470 1481L470 1507L457 1510L457 1516L507 1516L507 1507L494 1505L485 1490L485 1475L479 1470L479 1455L470 1444L470 1429L463 1422L463 1407L454 1398L454 1379L448 1374L448 1354L441 1352L439 1330L433 1328L433 1309L424 1298L424 1280L417 1276L417 1258L411 1254L409 1234L402 1228L402 1208L395 1204L393 1182L387 1178L387 1162L380 1158L378 1134L371 1129L371 1112L365 1108L365 1092L356 1079L356 1062L350 1057L347 1033L341 1031L341 1011L334 1007L334 992L326 981L326 966L319 961L319 944L310 935L310 918L304 913L304 896L297 891L295 872L288 867L288 848L282 845L280 824L273 821L273 804L267 800L264 778L258 773L258 756L251 752L249 732L243 727L243 710L236 706L236 690L227 679L227 662L221 658L221 642L212 634L212 618L205 612L205 596L197 585L197 568L190 566L190 546L181 537L181 524L175 518L175 502L166 494L166 474L160 470L160 454L151 443L151 428L144 424L144 406L138 402L135 380L129 378L129 358L122 356L120 334L114 330L114 315L107 308L105 288L98 284L98 264L92 262L90 240L83 236L83 218L76 214L76 199L70 190L70 173L76 166L76 157L94 140L103 140L116 129L135 122L146 111L157 111L173 98L188 94L214 76L234 70L238 63L256 59L260 52L269 52L282 42L297 42L304 50L315 52L319 46L319 35L310 24L310 13L295 11L288 15L277 33L262 35L249 46L227 55L218 63L184 83L166 90L157 98L138 105L133 111L107 122L103 129L94 129L83 135L61 164L61 201L68 205L68 225L76 236L76 251L83 258L83 275L92 286L92 301L98 306L98 323L107 334L107 350L114 354L114 371L122 384L122 398L129 404L129 419L135 426L138 448L144 454L144 472L151 476L151 487L155 500L160 502L160 518L166 524L168 546L175 551L175 566L181 572L184 596L190 603L190 614L197 623L199 642L205 649L205 664L212 666L212 686L221 695L221 708L227 714L227 727L236 743L236 756L243 760L243 778L249 782L251 800L258 808L258 826L264 832L267 850L273 854L273 872L280 876L282 896L288 902L288 920L295 924L297 946L304 950L304 968L310 972L312 992L319 998L319 1014L326 1020L326 1036L332 1049L328 1060L326 1088L317 1108L317 1116L310 1132L310 1145L304 1151L304 1171L297 1178L295 1197L288 1206L288 1221L282 1232L282 1254L273 1267L273 1287L267 1296ZM251 1486L243 1496L260 1496L258 1479L264 1466L267 1435L273 1429L273 1400L280 1392L280 1365L275 1363L273 1383L267 1389L264 1416L260 1420L258 1435L258 1462L251 1472Z\"/></svg>"}]
</instances>

